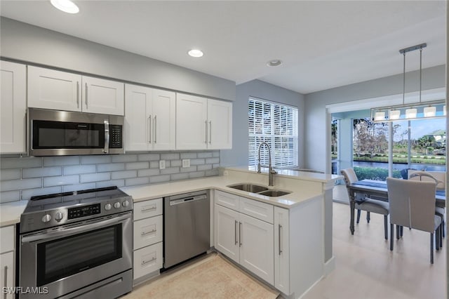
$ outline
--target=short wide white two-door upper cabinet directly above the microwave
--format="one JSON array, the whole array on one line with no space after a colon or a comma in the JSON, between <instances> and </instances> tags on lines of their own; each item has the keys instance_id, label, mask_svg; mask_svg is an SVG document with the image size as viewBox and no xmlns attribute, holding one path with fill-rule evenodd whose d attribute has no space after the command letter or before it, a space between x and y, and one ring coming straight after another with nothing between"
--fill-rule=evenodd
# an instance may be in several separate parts
<instances>
[{"instance_id":1,"label":"short wide white two-door upper cabinet directly above the microwave","mask_svg":"<svg viewBox=\"0 0 449 299\"><path fill-rule=\"evenodd\" d=\"M123 83L28 67L28 107L123 115Z\"/></svg>"}]
</instances>

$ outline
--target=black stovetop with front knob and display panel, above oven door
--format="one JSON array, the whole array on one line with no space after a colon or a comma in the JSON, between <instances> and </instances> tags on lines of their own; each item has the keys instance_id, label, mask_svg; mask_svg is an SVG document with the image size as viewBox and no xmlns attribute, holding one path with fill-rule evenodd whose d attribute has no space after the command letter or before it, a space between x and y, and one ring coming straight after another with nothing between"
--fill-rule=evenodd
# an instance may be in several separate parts
<instances>
[{"instance_id":1,"label":"black stovetop with front knob and display panel, above oven door","mask_svg":"<svg viewBox=\"0 0 449 299\"><path fill-rule=\"evenodd\" d=\"M20 216L20 232L31 232L133 210L133 199L117 187L32 197Z\"/></svg>"}]
</instances>

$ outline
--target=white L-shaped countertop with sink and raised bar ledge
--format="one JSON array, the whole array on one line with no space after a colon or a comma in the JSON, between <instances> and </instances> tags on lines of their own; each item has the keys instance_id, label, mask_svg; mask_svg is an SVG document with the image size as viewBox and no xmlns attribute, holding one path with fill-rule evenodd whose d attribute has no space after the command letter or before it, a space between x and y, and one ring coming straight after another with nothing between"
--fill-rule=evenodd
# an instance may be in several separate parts
<instances>
[{"instance_id":1,"label":"white L-shaped countertop with sink and raised bar ledge","mask_svg":"<svg viewBox=\"0 0 449 299\"><path fill-rule=\"evenodd\" d=\"M257 185L267 185L267 174L256 174L258 175L258 178L255 177L254 171L248 171L248 169L243 170L241 168L225 168L223 171L238 171L242 173L248 173L248 175L252 174L252 178L249 176L246 177L246 179L242 180L240 177L235 177L232 175L220 175L220 176L214 176L210 178L198 178L194 180L182 180L177 182L166 182L156 185L142 185L142 186L135 186L135 187L121 187L120 189L123 190L123 192L126 192L130 196L133 197L134 202L138 201L145 201L148 199L156 199L161 197L168 197L175 194L181 194L181 193L187 193L187 192L194 192L199 190L208 190L208 189L214 189L214 190L221 190L224 192L236 194L239 196L247 197L250 199L255 199L257 201L266 202L269 204L272 204L274 206L281 206L283 208L292 208L293 206L297 206L298 204L308 201L310 199L314 199L316 197L321 197L323 195L323 191L316 190L315 188L311 188L313 190L309 190L308 188L304 187L296 187L295 184L290 184L287 187L269 187L270 189L276 189L276 190L283 190L291 192L290 194L281 196L281 197L267 197L260 194L254 194L251 192L245 192L241 190L236 190L230 187L227 187L228 185L233 185L236 183L255 183ZM285 178L293 178L295 180L307 180L307 181L314 181L319 182L321 184L326 184L329 181L335 180L337 178L340 178L339 175L333 175L332 177L330 175L324 175L320 173L306 173L304 179L304 175L298 175L298 171L295 171L296 173L293 173L293 175L288 174L281 174L276 175L277 180L279 180L281 177ZM313 178L315 176L315 178ZM316 177L317 176L317 177ZM266 181L265 181L266 180Z\"/></svg>"}]
</instances>

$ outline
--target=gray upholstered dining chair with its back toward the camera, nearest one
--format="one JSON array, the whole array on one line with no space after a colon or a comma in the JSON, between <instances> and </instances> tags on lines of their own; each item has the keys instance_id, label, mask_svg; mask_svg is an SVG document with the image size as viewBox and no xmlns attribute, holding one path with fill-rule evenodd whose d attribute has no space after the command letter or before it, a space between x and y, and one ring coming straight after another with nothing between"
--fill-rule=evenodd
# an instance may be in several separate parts
<instances>
[{"instance_id":1,"label":"gray upholstered dining chair with its back toward the camera, nearest one","mask_svg":"<svg viewBox=\"0 0 449 299\"><path fill-rule=\"evenodd\" d=\"M435 215L435 182L387 178L390 204L390 250L394 247L394 225L430 233L430 263L434 263L434 239L439 247L438 227L441 218ZM435 238L434 238L435 234Z\"/></svg>"}]
</instances>

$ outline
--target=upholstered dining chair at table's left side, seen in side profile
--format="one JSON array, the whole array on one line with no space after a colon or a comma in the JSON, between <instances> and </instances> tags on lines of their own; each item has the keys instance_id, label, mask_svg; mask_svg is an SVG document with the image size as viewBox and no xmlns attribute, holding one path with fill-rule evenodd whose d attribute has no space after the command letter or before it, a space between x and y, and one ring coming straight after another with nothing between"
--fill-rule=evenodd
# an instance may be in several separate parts
<instances>
[{"instance_id":1,"label":"upholstered dining chair at table's left side, seen in side profile","mask_svg":"<svg viewBox=\"0 0 449 299\"><path fill-rule=\"evenodd\" d=\"M344 182L346 185L354 184L358 182L357 175L353 168L346 168L340 171L344 176ZM348 192L349 194L349 192ZM357 210L357 223L360 220L361 211L366 211L366 220L370 222L370 213L377 213L384 215L384 235L385 239L388 239L388 214L389 214L389 204L386 201L380 201L377 199L370 199L366 197L366 194L356 193L356 210Z\"/></svg>"}]
</instances>

